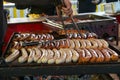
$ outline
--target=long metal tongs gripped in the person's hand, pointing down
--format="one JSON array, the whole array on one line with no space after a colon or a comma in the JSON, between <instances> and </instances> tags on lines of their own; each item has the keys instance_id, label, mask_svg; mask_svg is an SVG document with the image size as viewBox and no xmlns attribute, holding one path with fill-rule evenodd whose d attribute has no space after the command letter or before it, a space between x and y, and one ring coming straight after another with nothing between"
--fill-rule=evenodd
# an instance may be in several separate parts
<instances>
[{"instance_id":1,"label":"long metal tongs gripped in the person's hand, pointing down","mask_svg":"<svg viewBox=\"0 0 120 80\"><path fill-rule=\"evenodd\" d=\"M60 17L60 20L62 22L62 25L63 25L63 28L65 29L65 23L64 23L64 18L63 18L63 14L62 14L62 7L64 6L65 7L65 3L63 0L54 0L54 3L55 3L55 6L58 8L58 14L59 14L59 17ZM79 31L79 27L77 25L77 23L74 21L73 17L72 16L69 16L69 18L71 19L75 29L78 31L78 33L80 33Z\"/></svg>"}]
</instances>

